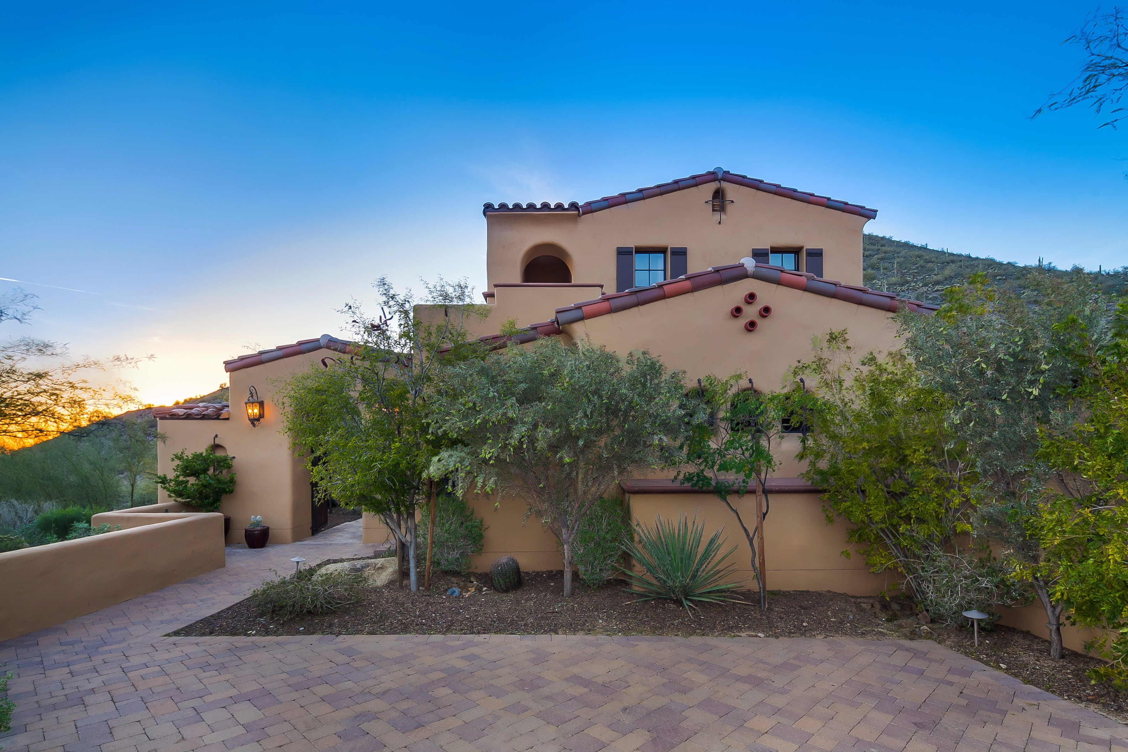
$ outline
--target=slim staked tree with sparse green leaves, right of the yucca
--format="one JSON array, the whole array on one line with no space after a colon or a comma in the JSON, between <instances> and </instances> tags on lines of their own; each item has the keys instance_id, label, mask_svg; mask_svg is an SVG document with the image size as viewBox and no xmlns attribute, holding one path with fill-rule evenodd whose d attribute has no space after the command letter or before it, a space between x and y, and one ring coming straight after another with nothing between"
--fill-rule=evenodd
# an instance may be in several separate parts
<instances>
[{"instance_id":1,"label":"slim staked tree with sparse green leaves, right of the yucca","mask_svg":"<svg viewBox=\"0 0 1128 752\"><path fill-rule=\"evenodd\" d=\"M729 508L740 524L751 550L752 573L760 592L760 609L767 609L767 586L757 556L759 521L751 529L730 497L743 497L752 489L764 494L764 516L770 510L766 492L768 475L778 466L773 442L778 442L783 423L802 416L811 401L805 390L763 395L741 389L746 374L725 379L714 375L698 380L696 390L687 396L689 428L681 450L685 468L676 479L682 485L713 494ZM801 418L800 418L801 419Z\"/></svg>"}]
</instances>

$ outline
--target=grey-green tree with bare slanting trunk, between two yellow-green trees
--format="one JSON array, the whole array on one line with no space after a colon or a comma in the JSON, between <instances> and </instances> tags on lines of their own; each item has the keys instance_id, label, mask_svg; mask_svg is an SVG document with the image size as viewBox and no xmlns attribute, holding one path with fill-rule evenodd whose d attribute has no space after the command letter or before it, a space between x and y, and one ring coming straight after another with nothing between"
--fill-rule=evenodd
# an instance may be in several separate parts
<instances>
[{"instance_id":1,"label":"grey-green tree with bare slanting trunk, between two yellow-green trees","mask_svg":"<svg viewBox=\"0 0 1128 752\"><path fill-rule=\"evenodd\" d=\"M1031 275L1024 295L1002 291L986 275L944 291L934 317L901 315L905 350L923 384L944 398L948 428L967 445L985 503L973 520L998 543L1046 610L1050 654L1061 657L1056 568L1037 528L1047 484L1063 480L1039 452L1039 427L1072 421L1067 395L1074 366L1056 322L1075 317L1094 334L1107 330L1107 304L1083 274Z\"/></svg>"}]
</instances>

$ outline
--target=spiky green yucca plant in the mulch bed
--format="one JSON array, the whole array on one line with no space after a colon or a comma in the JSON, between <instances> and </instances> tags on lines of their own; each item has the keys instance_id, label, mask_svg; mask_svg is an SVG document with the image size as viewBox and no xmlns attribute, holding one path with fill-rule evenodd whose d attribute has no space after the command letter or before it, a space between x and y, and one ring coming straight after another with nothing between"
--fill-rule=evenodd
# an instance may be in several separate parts
<instances>
[{"instance_id":1,"label":"spiky green yucca plant in the mulch bed","mask_svg":"<svg viewBox=\"0 0 1128 752\"><path fill-rule=\"evenodd\" d=\"M721 552L725 541L721 537L723 532L722 525L702 546L705 529L697 524L696 514L691 522L679 514L675 524L660 514L653 528L636 524L635 541L628 541L624 550L646 576L620 568L631 584L628 592L637 595L638 601L676 601L690 613L690 608L697 608L699 602L740 602L741 599L732 594L740 585L726 582L735 565L724 564L737 547Z\"/></svg>"}]
</instances>

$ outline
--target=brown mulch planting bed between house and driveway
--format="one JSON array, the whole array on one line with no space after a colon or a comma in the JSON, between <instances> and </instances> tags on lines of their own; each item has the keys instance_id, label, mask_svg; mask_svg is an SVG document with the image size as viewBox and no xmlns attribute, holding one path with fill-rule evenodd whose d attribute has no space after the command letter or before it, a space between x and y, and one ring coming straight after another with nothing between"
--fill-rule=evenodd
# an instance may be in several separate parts
<instances>
[{"instance_id":1,"label":"brown mulch planting bed between house and driveway","mask_svg":"<svg viewBox=\"0 0 1128 752\"><path fill-rule=\"evenodd\" d=\"M561 634L934 639L1028 684L1128 719L1128 693L1094 687L1085 676L1086 670L1100 664L1098 660L1066 651L1061 661L1055 661L1048 655L1046 640L1001 626L981 630L977 648L970 628L924 625L907 601L773 591L768 611L761 613L758 594L746 592L740 593L742 603L705 603L688 613L668 601L637 602L624 592L620 581L597 590L578 583L575 595L565 599L563 572L526 572L522 580L521 587L500 593L493 590L488 573L443 573L432 576L429 592L412 593L405 577L403 590L395 584L368 590L355 605L290 621L261 614L248 599L171 636ZM446 595L450 587L459 587L464 595ZM466 595L470 587L475 592Z\"/></svg>"}]
</instances>

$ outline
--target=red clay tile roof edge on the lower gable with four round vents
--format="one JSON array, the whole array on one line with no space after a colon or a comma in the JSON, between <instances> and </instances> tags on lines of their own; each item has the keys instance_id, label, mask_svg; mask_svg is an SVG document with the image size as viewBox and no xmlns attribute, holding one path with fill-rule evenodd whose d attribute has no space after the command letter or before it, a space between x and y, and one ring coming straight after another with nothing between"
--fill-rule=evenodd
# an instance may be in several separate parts
<instances>
[{"instance_id":1,"label":"red clay tile roof edge on the lower gable with four round vents","mask_svg":"<svg viewBox=\"0 0 1128 752\"><path fill-rule=\"evenodd\" d=\"M896 313L908 309L922 313L932 313L937 307L928 306L918 300L906 300L889 292L878 292L869 287L843 284L836 280L822 280L804 272L788 272L779 266L757 264L751 271L743 264L712 266L705 272L693 272L676 280L659 282L650 287L632 287L626 292L615 292L600 295L594 300L573 303L556 309L554 319L557 327L593 319L607 313L616 313L628 308L637 308L669 300L689 292L707 290L722 284L731 284L741 280L759 280L769 284L778 284L803 292L814 293L825 298L836 298L847 303L876 308ZM536 325L535 325L536 326Z\"/></svg>"}]
</instances>

